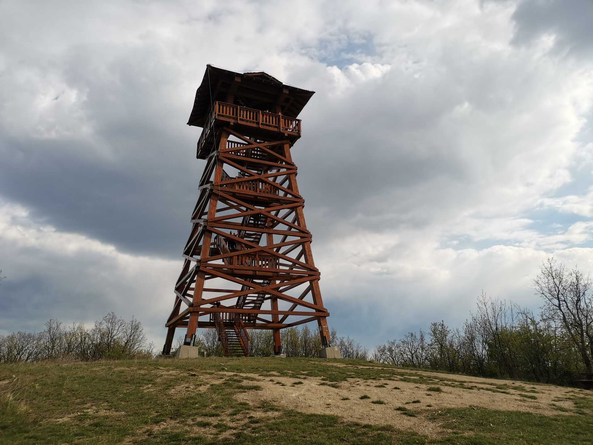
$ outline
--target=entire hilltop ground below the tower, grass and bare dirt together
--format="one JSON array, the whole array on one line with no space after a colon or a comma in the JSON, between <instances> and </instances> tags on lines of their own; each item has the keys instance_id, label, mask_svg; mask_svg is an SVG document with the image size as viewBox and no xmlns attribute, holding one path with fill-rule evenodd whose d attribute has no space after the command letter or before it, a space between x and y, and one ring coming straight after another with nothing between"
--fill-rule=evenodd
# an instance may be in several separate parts
<instances>
[{"instance_id":1,"label":"entire hilltop ground below the tower, grass and bare dirt together","mask_svg":"<svg viewBox=\"0 0 593 445\"><path fill-rule=\"evenodd\" d=\"M0 443L591 444L593 393L366 361L0 365Z\"/></svg>"}]
</instances>

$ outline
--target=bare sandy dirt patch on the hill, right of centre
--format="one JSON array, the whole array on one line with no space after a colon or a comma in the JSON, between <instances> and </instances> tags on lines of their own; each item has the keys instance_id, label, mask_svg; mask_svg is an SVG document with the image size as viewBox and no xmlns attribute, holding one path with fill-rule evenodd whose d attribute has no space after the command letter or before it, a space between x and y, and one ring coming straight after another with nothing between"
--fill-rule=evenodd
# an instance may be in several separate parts
<instances>
[{"instance_id":1,"label":"bare sandy dirt patch on the hill, right of centre","mask_svg":"<svg viewBox=\"0 0 593 445\"><path fill-rule=\"evenodd\" d=\"M543 415L563 414L559 409L574 409L574 403L568 397L575 395L575 390L566 387L422 371L413 371L413 374L435 379L446 377L455 382L469 383L463 384L465 387L452 382L427 384L414 382L413 380L418 377L406 376L402 378L408 381L347 379L346 382L334 384L336 387L332 387L318 377L259 377L257 384L262 386L263 390L241 393L236 398L252 405L266 401L310 414L336 415L347 421L390 424L396 428L414 430L429 436L439 434L440 431L438 425L422 415L430 409L474 407ZM297 381L302 383L291 386ZM454 386L445 386L446 384ZM496 389L496 386L501 385L505 386L505 389ZM430 391L429 386L438 386L441 390ZM361 399L361 396L368 398ZM374 400L381 400L384 404L372 403ZM416 412L417 417L403 415L401 411L396 410L399 406Z\"/></svg>"}]
</instances>

